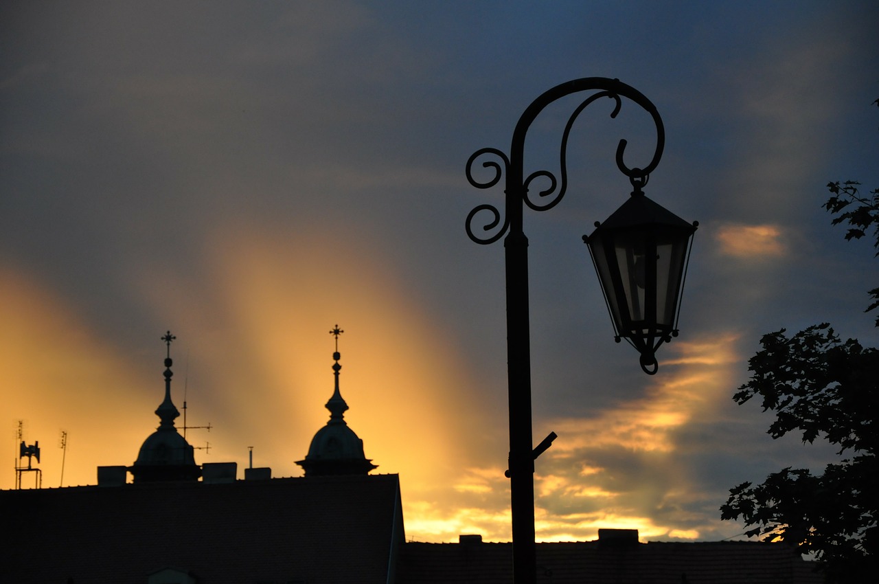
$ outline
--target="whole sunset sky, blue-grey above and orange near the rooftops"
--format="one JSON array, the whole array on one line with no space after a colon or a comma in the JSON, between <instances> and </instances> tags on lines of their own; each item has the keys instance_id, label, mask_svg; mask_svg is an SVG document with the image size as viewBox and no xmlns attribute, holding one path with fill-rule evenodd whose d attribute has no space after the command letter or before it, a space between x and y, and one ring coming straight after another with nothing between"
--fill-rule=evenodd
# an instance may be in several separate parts
<instances>
[{"instance_id":1,"label":"whole sunset sky, blue-grey above and orange near the rooftops","mask_svg":"<svg viewBox=\"0 0 879 584\"><path fill-rule=\"evenodd\" d=\"M635 165L655 134L632 102L589 106L568 194L525 216L534 442L558 434L537 537L741 537L730 487L834 456L732 401L760 336L829 321L879 342L874 250L821 208L828 181L879 186L876 22L873 0L4 2L0 488L18 420L44 488L132 464L169 329L172 398L212 426L187 433L196 461L243 477L252 447L301 476L338 323L345 419L400 474L406 537L508 541L504 248L464 230L503 193L464 165L508 151L543 91L617 77L665 122L645 192L700 228L680 336L646 376L581 236L631 190L616 143ZM535 121L527 172L556 171L579 103Z\"/></svg>"}]
</instances>

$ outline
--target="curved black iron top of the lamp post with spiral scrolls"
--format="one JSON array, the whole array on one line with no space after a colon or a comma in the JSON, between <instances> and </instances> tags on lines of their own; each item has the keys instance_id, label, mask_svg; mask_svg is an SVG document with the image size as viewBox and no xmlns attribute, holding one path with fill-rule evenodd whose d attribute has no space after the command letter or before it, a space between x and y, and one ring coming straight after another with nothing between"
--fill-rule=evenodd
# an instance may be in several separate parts
<instances>
[{"instance_id":1,"label":"curved black iron top of the lamp post with spiral scrolls","mask_svg":"<svg viewBox=\"0 0 879 584\"><path fill-rule=\"evenodd\" d=\"M598 92L593 93L588 98L586 98L574 110L574 112L570 114L570 118L565 125L559 154L559 174L561 180L556 179L556 175L547 170L532 172L527 176L527 178L524 178L523 158L525 135L527 134L527 130L531 126L531 123L537 118L537 116L546 106L556 101L556 99L561 99L567 95L580 91L593 90L596 90ZM524 113L522 113L521 117L519 118L519 122L516 124L515 130L513 130L512 145L510 147L509 157L507 157L503 151L496 148L483 148L480 150L476 150L476 152L474 152L469 157L467 161L466 173L470 185L475 186L476 188L485 189L497 185L502 178L506 179L506 212L504 215L501 215L497 207L487 203L476 206L467 215L465 229L467 230L468 237L473 242L480 245L489 245L498 241L498 239L500 239L501 237L504 237L505 233L507 233L508 231L520 232L522 229L522 203L527 205L528 208L531 208L535 211L546 211L550 208L555 207L559 203L559 201L562 201L568 187L566 155L570 129L573 127L574 122L577 120L579 114L582 113L587 106L592 104L592 102L605 97L614 99L614 101L616 102L614 105L614 110L610 114L610 117L612 119L615 119L617 114L620 113L622 106L621 98L626 98L634 101L638 106L641 106L647 113L650 113L650 117L653 119L653 122L656 125L657 147L654 151L653 158L646 166L629 167L628 164L625 163L624 154L626 150L626 144L628 143L625 139L620 140L616 149L617 168L619 168L620 172L628 177L629 181L632 183L632 186L634 186L636 189L640 189L647 184L647 180L650 177L650 172L653 172L653 170L657 167L657 164L659 164L659 159L662 157L662 152L665 148L665 127L663 126L662 119L659 117L659 113L657 113L656 106L653 105L650 99L647 99L643 95L643 93L637 91L634 87L622 83L619 79L608 79L607 77L584 77L582 79L569 81L565 84L556 85L556 87L545 91L540 97L534 99L531 105L527 107ZM497 158L485 160L482 164L483 168L492 169L494 171L494 175L487 180L476 179L473 175L473 165L476 163L477 159L480 159L487 155L492 155L493 157ZM541 190L538 193L538 196L540 197L539 201L545 199L546 197L551 198L546 201L537 202L533 201L529 197L528 186L531 185L534 179L538 179L541 177L544 179L548 179L549 185L547 188ZM557 192L556 188L558 189ZM482 226L482 230L496 230L492 235L488 237L479 237L473 230L473 223L476 219L476 215L478 215L482 211L488 211L492 215L491 221L488 223L484 223ZM501 224L502 222L503 224ZM500 225L499 229L498 225Z\"/></svg>"}]
</instances>

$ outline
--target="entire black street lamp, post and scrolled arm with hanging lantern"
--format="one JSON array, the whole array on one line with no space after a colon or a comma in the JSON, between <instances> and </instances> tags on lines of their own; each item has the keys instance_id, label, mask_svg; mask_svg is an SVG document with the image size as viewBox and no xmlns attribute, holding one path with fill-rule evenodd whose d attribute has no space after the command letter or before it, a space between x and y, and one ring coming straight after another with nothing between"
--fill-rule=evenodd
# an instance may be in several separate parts
<instances>
[{"instance_id":1,"label":"entire black street lamp, post and scrolled arm with hanging lantern","mask_svg":"<svg viewBox=\"0 0 879 584\"><path fill-rule=\"evenodd\" d=\"M560 176L536 171L524 176L523 155L525 136L531 123L550 103L572 93L596 91L571 113L562 135ZM528 239L522 230L523 203L535 211L553 208L567 190L566 150L570 128L578 115L593 101L614 99L611 118L620 112L621 98L634 101L650 113L657 128L657 148L650 163L628 167L623 157L626 141L616 150L616 165L633 187L626 201L604 223L596 223L589 236L584 236L599 275L601 288L611 313L615 339L626 339L641 354L641 368L650 375L657 371L656 350L677 336L676 314L679 308L686 262L692 237L698 223L686 223L671 211L650 201L643 186L662 157L665 129L656 106L640 91L605 77L585 77L557 85L535 99L519 118L512 133L510 156L501 150L476 150L467 161L467 179L476 188L490 188L505 178L505 213L492 205L478 205L465 223L467 234L477 244L488 245L506 234L506 326L507 379L510 401L510 478L512 510L512 569L515 584L532 583L536 578L534 545L534 459L555 437L533 448L531 430L531 349L528 325ZM473 177L477 159L490 156L483 167L492 169L488 180ZM534 179L548 179L549 186L539 194L542 202L529 196L528 186ZM556 187L558 191L556 193ZM483 231L490 235L478 237L473 230L474 218L487 211L492 215Z\"/></svg>"}]
</instances>

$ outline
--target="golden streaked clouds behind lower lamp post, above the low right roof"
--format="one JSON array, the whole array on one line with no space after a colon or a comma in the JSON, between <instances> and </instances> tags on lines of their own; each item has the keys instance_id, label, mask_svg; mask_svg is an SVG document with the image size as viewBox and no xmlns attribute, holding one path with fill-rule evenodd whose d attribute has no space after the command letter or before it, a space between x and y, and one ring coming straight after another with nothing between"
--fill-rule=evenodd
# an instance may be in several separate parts
<instances>
[{"instance_id":1,"label":"golden streaked clouds behind lower lamp post, above the low right roof","mask_svg":"<svg viewBox=\"0 0 879 584\"><path fill-rule=\"evenodd\" d=\"M584 541L598 529L638 529L643 540L659 537L698 539L702 527L683 508L676 515L686 525L650 517L657 507L683 507L681 501L701 496L699 485L687 484L686 474L673 463L676 432L690 420L710 419L718 394L728 391L730 368L738 362L737 335L676 342L665 361L665 377L656 378L643 398L621 403L593 420L548 420L559 434L541 458L534 476L535 529L541 542ZM538 432L537 434L540 434ZM590 452L621 448L656 474L657 483L673 482L673 492L653 483L626 484L608 475L589 458ZM555 463L555 464L554 464ZM541 473L540 467L551 470ZM498 467L470 467L453 480L457 497L410 500L403 503L407 533L422 541L453 542L463 533L478 533L487 541L509 541L509 483ZM614 486L615 485L615 486ZM465 501L476 501L467 504ZM704 529L715 529L714 525Z\"/></svg>"}]
</instances>

